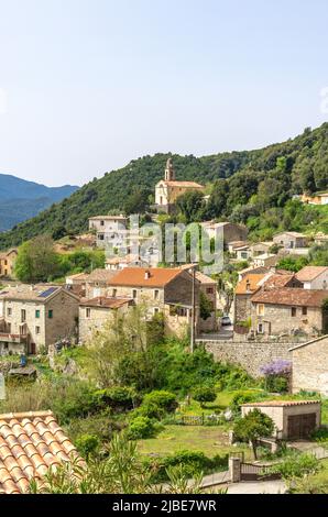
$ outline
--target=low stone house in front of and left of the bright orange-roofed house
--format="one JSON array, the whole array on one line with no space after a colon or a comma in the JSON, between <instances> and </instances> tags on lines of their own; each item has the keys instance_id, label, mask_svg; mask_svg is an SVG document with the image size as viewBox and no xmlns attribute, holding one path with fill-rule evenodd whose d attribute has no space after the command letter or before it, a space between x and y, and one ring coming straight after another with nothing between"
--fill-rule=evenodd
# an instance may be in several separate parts
<instances>
[{"instance_id":1,"label":"low stone house in front of and left of the bright orange-roofed house","mask_svg":"<svg viewBox=\"0 0 328 517\"><path fill-rule=\"evenodd\" d=\"M95 332L110 321L118 312L125 312L133 305L130 298L98 297L83 300L79 305L78 338L87 342Z\"/></svg>"}]
</instances>

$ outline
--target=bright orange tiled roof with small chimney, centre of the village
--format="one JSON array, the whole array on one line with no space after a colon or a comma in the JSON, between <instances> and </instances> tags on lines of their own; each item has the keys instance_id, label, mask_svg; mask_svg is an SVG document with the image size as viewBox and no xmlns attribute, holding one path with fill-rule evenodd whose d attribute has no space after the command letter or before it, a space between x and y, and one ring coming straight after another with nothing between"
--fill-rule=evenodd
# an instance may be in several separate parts
<instances>
[{"instance_id":1,"label":"bright orange tiled roof with small chimney, centre of the village","mask_svg":"<svg viewBox=\"0 0 328 517\"><path fill-rule=\"evenodd\" d=\"M117 273L109 282L111 286L129 287L164 287L171 280L182 275L179 268L164 267L125 267Z\"/></svg>"}]
</instances>

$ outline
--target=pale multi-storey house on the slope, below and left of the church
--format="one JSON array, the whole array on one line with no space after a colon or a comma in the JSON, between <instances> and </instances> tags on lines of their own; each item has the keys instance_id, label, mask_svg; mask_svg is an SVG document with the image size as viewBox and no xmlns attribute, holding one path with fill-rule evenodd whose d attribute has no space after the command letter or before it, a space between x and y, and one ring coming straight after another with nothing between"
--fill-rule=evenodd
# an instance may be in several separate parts
<instances>
[{"instance_id":1,"label":"pale multi-storey house on the slope, below and left of the church","mask_svg":"<svg viewBox=\"0 0 328 517\"><path fill-rule=\"evenodd\" d=\"M127 237L128 218L124 216L97 216L89 219L89 230L96 232L97 246L111 244L120 248Z\"/></svg>"}]
</instances>

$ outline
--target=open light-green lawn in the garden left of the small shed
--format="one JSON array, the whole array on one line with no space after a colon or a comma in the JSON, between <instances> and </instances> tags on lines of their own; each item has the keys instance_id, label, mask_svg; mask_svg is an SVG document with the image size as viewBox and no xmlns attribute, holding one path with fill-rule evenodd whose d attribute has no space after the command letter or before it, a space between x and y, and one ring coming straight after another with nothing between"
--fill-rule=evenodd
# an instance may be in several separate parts
<instances>
[{"instance_id":1,"label":"open light-green lawn in the garden left of the small shed","mask_svg":"<svg viewBox=\"0 0 328 517\"><path fill-rule=\"evenodd\" d=\"M251 455L247 446L236 448L229 444L225 426L166 426L157 438L139 440L138 449L142 454L158 455L167 455L186 449L201 451L208 458L239 450Z\"/></svg>"}]
</instances>

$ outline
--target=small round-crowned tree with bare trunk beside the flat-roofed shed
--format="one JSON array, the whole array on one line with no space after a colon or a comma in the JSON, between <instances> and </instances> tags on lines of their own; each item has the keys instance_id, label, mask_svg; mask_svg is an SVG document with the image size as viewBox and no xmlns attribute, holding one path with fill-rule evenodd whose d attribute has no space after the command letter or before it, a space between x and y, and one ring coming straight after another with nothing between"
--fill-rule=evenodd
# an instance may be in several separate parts
<instances>
[{"instance_id":1,"label":"small round-crowned tree with bare trunk beside the flat-roofed shed","mask_svg":"<svg viewBox=\"0 0 328 517\"><path fill-rule=\"evenodd\" d=\"M253 454L258 459L256 448L259 438L270 438L274 431L274 422L272 418L260 409L253 409L243 418L234 424L236 437L247 440L252 444Z\"/></svg>"}]
</instances>

